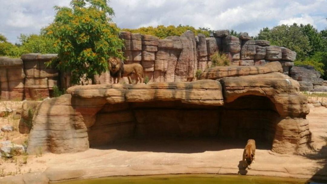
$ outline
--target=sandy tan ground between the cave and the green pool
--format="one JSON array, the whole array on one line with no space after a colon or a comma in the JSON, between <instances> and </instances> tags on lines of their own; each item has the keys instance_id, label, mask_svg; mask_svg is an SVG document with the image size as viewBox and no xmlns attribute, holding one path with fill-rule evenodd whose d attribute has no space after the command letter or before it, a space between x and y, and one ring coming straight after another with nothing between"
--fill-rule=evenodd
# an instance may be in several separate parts
<instances>
[{"instance_id":1,"label":"sandy tan ground between the cave and the green pool","mask_svg":"<svg viewBox=\"0 0 327 184\"><path fill-rule=\"evenodd\" d=\"M10 117L7 117L10 118ZM257 142L256 160L250 170L240 169L244 142L228 139L152 139L122 140L108 147L85 152L16 156L1 159L0 176L45 172L51 181L114 175L159 174L246 174L327 179L327 108L310 105L310 130L320 149L311 156L279 155L267 144ZM10 121L10 120L9 120ZM10 123L1 119L0 125ZM15 141L24 135L7 135ZM7 139L2 136L3 139ZM19 141L18 141L19 140ZM322 148L322 149L321 149ZM24 159L27 163L24 164Z\"/></svg>"}]
</instances>

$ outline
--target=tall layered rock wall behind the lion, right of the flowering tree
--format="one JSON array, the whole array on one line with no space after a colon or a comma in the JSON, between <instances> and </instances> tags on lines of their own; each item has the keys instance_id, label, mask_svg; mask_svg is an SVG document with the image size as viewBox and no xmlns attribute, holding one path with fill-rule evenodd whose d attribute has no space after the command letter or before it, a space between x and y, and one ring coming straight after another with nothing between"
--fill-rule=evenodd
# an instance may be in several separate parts
<instances>
[{"instance_id":1,"label":"tall layered rock wall behind the lion, right of the flowering tree","mask_svg":"<svg viewBox=\"0 0 327 184\"><path fill-rule=\"evenodd\" d=\"M196 71L210 67L210 56L217 51L228 54L232 65L263 65L279 61L286 75L296 58L296 52L287 48L270 46L264 40L251 40L247 33L231 36L229 30L217 30L210 38L186 31L181 36L165 39L123 31L121 38L125 40L123 51L127 64L142 64L149 82L194 81Z\"/></svg>"}]
</instances>

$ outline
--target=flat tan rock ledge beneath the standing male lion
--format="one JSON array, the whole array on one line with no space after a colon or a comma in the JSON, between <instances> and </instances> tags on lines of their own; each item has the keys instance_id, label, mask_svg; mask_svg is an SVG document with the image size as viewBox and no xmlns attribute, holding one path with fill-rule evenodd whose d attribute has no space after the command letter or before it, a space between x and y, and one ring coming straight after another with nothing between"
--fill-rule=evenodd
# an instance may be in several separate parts
<instances>
[{"instance_id":1,"label":"flat tan rock ledge beneath the standing male lion","mask_svg":"<svg viewBox=\"0 0 327 184\"><path fill-rule=\"evenodd\" d=\"M74 97L106 98L108 103L176 101L184 103L223 105L222 87L218 81L150 83L144 84L99 84L74 86L67 89Z\"/></svg>"}]
</instances>

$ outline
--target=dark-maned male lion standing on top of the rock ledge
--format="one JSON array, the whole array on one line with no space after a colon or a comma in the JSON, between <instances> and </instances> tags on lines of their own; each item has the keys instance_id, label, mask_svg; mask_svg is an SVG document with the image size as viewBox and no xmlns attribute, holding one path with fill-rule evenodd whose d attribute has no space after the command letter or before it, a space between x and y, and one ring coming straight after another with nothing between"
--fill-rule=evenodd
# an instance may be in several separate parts
<instances>
[{"instance_id":1,"label":"dark-maned male lion standing on top of the rock ledge","mask_svg":"<svg viewBox=\"0 0 327 184\"><path fill-rule=\"evenodd\" d=\"M120 78L127 77L128 82L131 84L132 80L130 76L132 74L136 74L136 81L137 84L140 80L140 83L144 82L143 79L143 67L141 64L133 63L133 64L124 64L119 58L112 57L108 59L109 63L109 72L113 78L113 83L119 83ZM117 79L117 82L116 82Z\"/></svg>"}]
</instances>

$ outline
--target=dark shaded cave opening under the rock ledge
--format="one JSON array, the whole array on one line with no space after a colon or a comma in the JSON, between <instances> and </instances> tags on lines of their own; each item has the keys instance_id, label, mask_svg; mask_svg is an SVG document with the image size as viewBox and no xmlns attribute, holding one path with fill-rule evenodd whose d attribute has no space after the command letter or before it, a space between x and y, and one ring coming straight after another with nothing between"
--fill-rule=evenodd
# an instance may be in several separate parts
<instances>
[{"instance_id":1,"label":"dark shaded cave opening under the rock ledge","mask_svg":"<svg viewBox=\"0 0 327 184\"><path fill-rule=\"evenodd\" d=\"M126 102L104 105L88 136L91 148L119 141L121 144L122 140L140 144L138 140L142 140L155 145L176 141L191 147L193 143L204 144L204 150L212 150L210 145L216 141L234 144L226 145L226 149L244 148L246 141L253 138L265 149L271 149L278 118L269 98L254 95L239 97L223 106L181 101Z\"/></svg>"}]
</instances>

